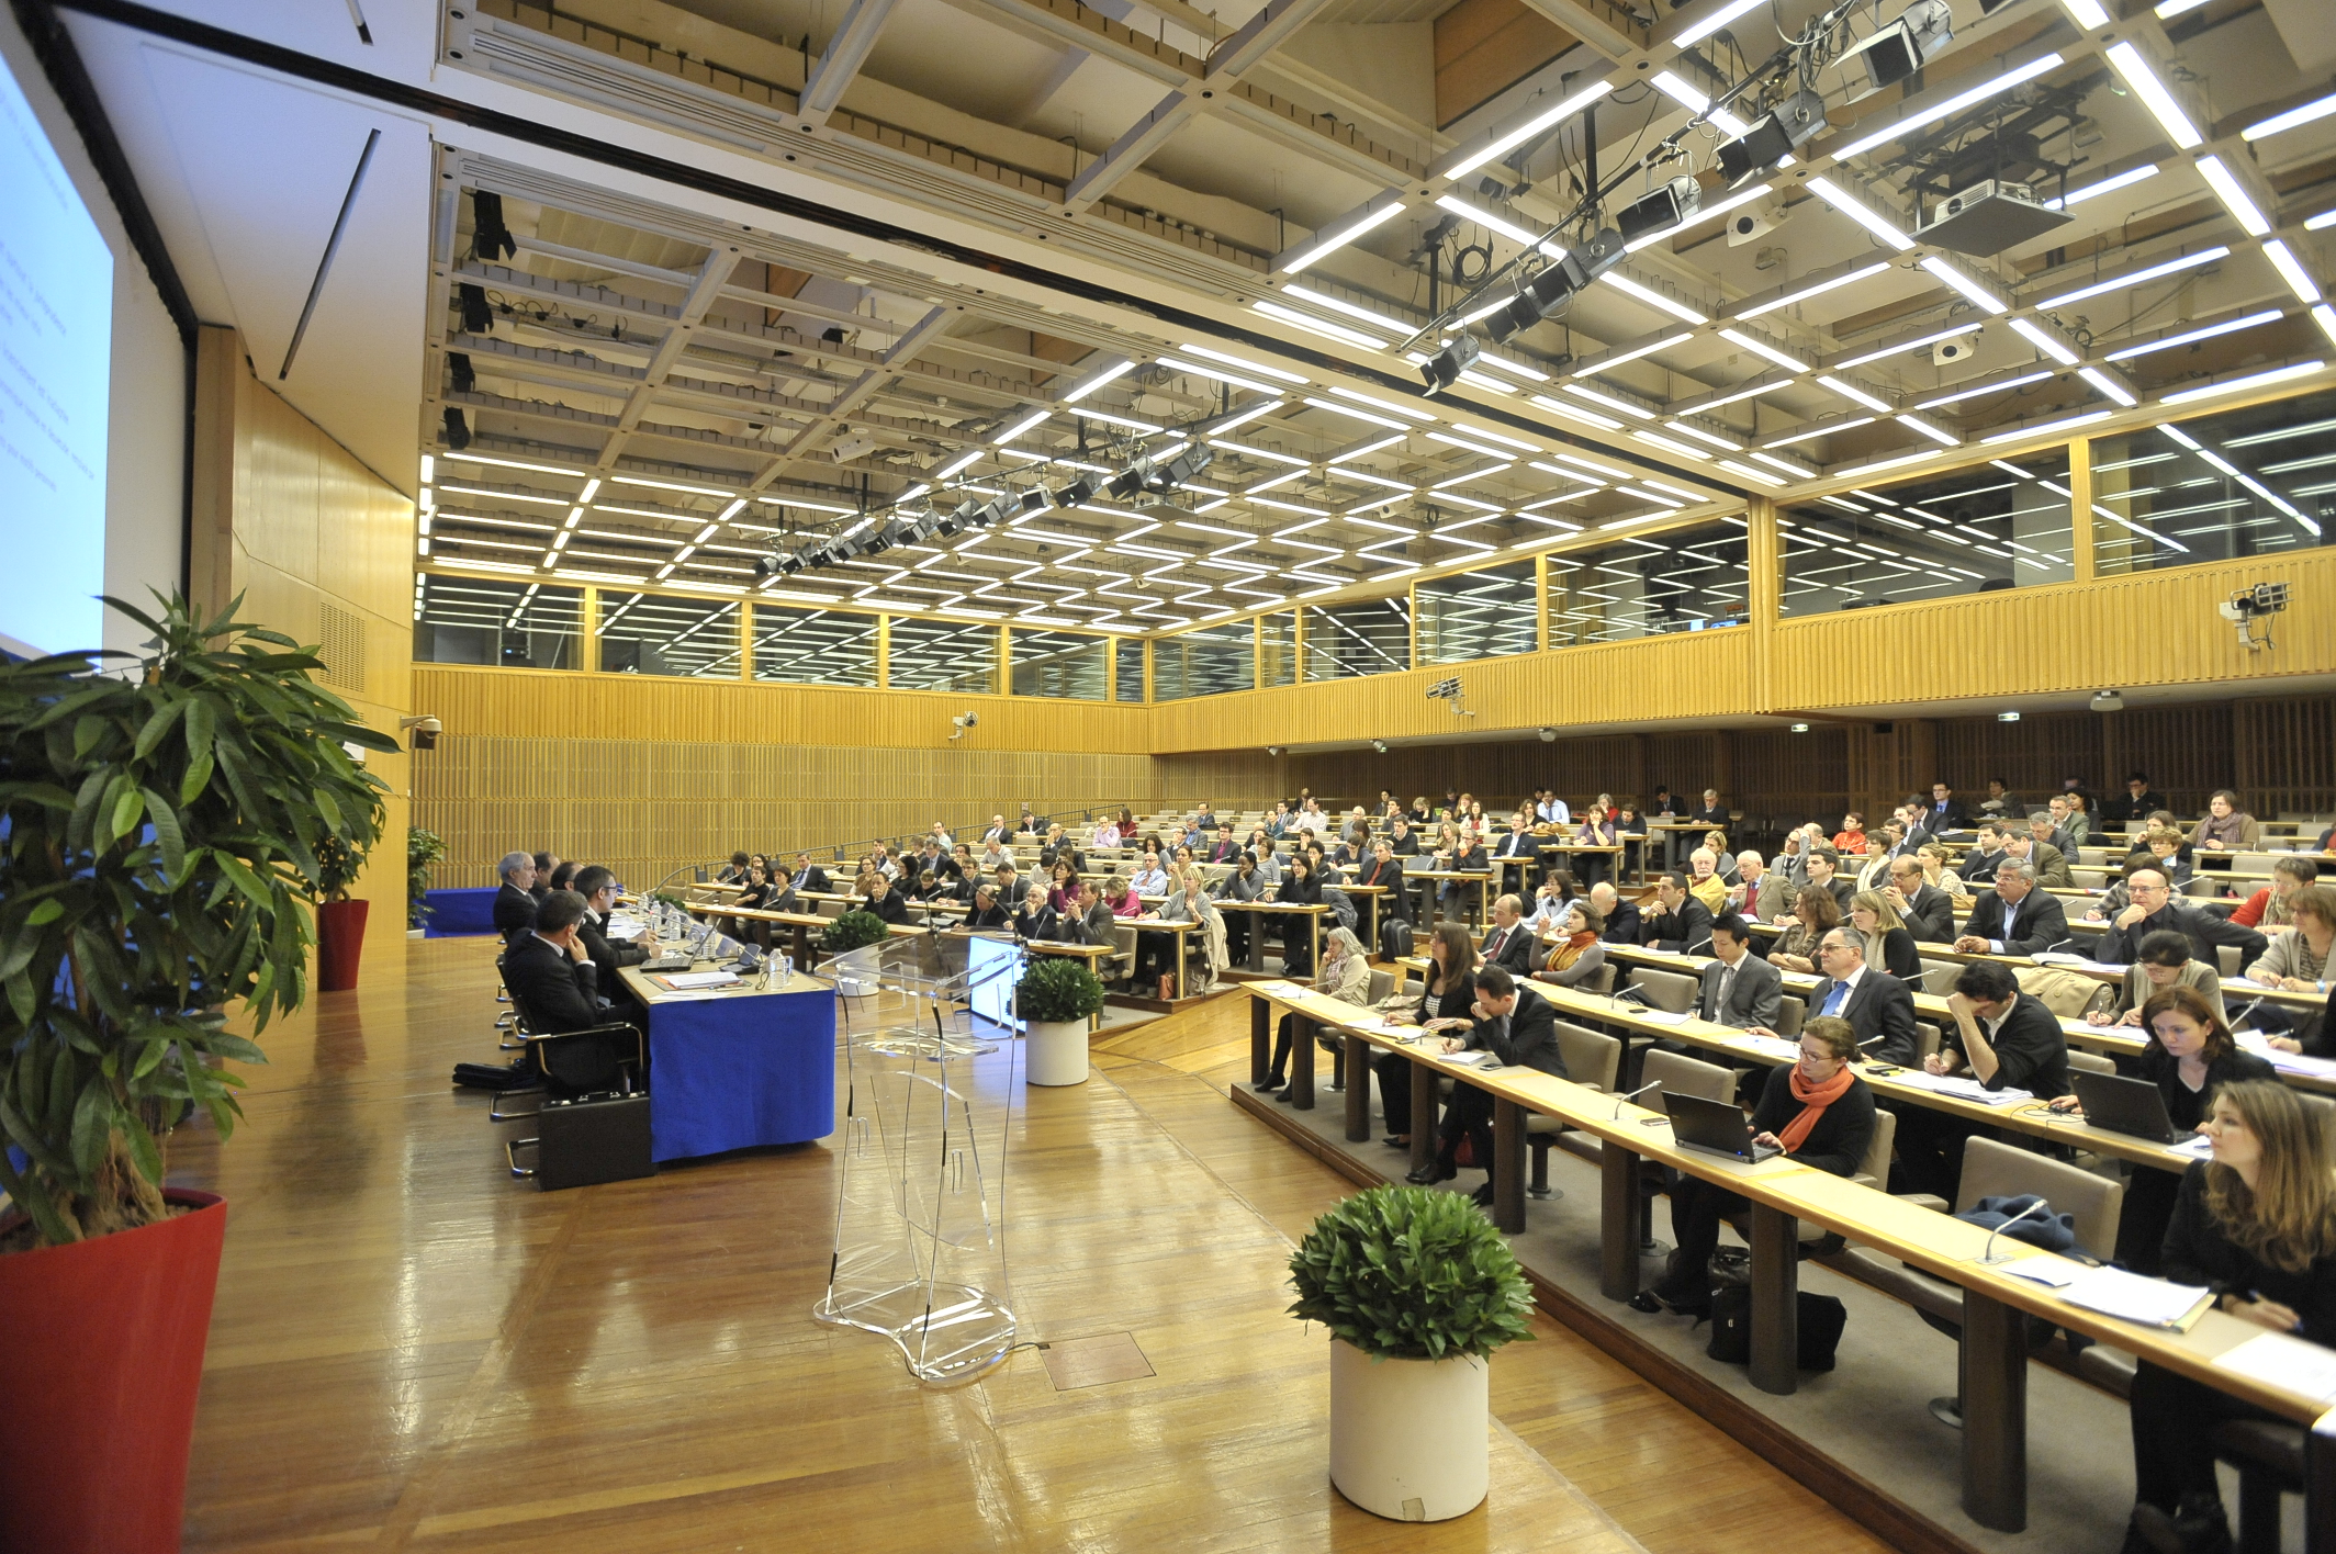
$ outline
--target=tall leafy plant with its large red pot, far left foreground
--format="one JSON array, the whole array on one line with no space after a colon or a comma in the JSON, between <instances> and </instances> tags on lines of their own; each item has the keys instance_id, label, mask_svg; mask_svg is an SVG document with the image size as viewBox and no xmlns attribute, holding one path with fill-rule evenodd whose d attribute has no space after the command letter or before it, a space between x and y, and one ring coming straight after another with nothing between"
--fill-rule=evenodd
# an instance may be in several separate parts
<instances>
[{"instance_id":1,"label":"tall leafy plant with its large red pot, far left foreground","mask_svg":"<svg viewBox=\"0 0 2336 1554\"><path fill-rule=\"evenodd\" d=\"M0 664L0 1547L178 1549L227 1208L164 1189L224 1138L252 1035L306 998L318 851L381 832L395 750L292 638L166 601L142 657ZM133 659L98 668L105 657Z\"/></svg>"}]
</instances>

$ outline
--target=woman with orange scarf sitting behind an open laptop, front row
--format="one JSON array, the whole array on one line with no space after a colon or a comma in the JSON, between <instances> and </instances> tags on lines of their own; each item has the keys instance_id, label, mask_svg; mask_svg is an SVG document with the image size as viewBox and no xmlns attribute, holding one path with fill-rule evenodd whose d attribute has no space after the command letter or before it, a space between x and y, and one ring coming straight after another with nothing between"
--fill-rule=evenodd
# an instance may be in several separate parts
<instances>
[{"instance_id":1,"label":"woman with orange scarf sitting behind an open laptop, front row","mask_svg":"<svg viewBox=\"0 0 2336 1554\"><path fill-rule=\"evenodd\" d=\"M1850 1175L1873 1143L1873 1091L1850 1070L1857 1035L1850 1021L1817 1017L1801 1026L1801 1059L1768 1070L1768 1087L1752 1108L1752 1138L1803 1166ZM1631 1297L1633 1311L1705 1316L1712 1309L1712 1248L1719 1222L1743 1213L1747 1199L1698 1175L1670 1185L1670 1234L1680 1243L1670 1269Z\"/></svg>"}]
</instances>

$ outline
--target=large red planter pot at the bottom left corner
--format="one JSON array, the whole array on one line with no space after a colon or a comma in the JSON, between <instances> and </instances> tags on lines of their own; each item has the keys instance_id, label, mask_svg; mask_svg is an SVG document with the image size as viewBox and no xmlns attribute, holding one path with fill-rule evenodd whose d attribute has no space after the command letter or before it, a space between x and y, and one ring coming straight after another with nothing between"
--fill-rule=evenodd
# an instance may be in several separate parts
<instances>
[{"instance_id":1,"label":"large red planter pot at the bottom left corner","mask_svg":"<svg viewBox=\"0 0 2336 1554\"><path fill-rule=\"evenodd\" d=\"M178 1549L227 1203L164 1196L194 1213L0 1257L0 1549Z\"/></svg>"}]
</instances>

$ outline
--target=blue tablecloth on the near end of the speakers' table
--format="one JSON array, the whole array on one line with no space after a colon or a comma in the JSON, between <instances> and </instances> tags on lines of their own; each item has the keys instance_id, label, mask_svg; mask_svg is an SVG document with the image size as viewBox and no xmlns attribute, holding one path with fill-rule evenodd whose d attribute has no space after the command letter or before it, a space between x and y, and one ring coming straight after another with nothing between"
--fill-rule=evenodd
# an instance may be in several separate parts
<instances>
[{"instance_id":1,"label":"blue tablecloth on the near end of the speakers' table","mask_svg":"<svg viewBox=\"0 0 2336 1554\"><path fill-rule=\"evenodd\" d=\"M836 1129L836 995L649 1005L649 1154L794 1145Z\"/></svg>"}]
</instances>

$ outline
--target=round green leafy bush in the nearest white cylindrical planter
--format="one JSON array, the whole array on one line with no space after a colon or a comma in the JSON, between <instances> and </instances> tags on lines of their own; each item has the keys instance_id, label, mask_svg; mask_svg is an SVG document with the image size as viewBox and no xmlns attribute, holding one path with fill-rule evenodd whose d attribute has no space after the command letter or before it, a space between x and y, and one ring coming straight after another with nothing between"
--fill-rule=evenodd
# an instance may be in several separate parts
<instances>
[{"instance_id":1,"label":"round green leafy bush in the nearest white cylindrical planter","mask_svg":"<svg viewBox=\"0 0 2336 1554\"><path fill-rule=\"evenodd\" d=\"M1374 1360L1490 1355L1530 1339L1532 1285L1493 1222L1458 1192L1371 1187L1313 1222L1289 1316Z\"/></svg>"}]
</instances>

